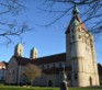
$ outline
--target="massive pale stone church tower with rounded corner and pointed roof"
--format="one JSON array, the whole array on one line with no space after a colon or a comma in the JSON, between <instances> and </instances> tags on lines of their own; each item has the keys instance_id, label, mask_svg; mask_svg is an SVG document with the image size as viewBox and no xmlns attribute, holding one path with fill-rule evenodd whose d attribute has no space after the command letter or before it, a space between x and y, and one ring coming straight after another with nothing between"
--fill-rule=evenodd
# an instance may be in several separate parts
<instances>
[{"instance_id":1,"label":"massive pale stone church tower with rounded corner and pointed roof","mask_svg":"<svg viewBox=\"0 0 102 90\"><path fill-rule=\"evenodd\" d=\"M75 5L66 31L66 63L71 61L73 87L99 86L93 36L88 32Z\"/></svg>"}]
</instances>

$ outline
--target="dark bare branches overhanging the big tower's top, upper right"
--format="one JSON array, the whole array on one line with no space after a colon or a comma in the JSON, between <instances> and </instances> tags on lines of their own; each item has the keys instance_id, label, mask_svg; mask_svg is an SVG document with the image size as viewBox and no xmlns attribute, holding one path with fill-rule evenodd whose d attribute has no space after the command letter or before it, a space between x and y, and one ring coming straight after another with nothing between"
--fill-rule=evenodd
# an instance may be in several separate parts
<instances>
[{"instance_id":1,"label":"dark bare branches overhanging the big tower's top, upper right","mask_svg":"<svg viewBox=\"0 0 102 90\"><path fill-rule=\"evenodd\" d=\"M65 18L65 15L70 14L75 4L80 7L82 10L81 16L83 18L83 22L91 22L89 31L93 34L98 34L102 32L102 0L44 0L42 4L37 5L38 9L49 12L49 15L56 15L52 22L46 24L49 26L60 19Z\"/></svg>"}]
</instances>

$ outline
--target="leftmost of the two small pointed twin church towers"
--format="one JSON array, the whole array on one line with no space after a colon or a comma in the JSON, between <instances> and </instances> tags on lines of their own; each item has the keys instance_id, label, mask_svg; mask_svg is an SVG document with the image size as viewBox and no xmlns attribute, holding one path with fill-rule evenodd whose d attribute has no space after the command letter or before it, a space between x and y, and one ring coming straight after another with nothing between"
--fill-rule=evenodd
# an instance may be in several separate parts
<instances>
[{"instance_id":1,"label":"leftmost of the two small pointed twin church towers","mask_svg":"<svg viewBox=\"0 0 102 90\"><path fill-rule=\"evenodd\" d=\"M15 46L14 56L19 56L19 57L22 57L23 56L23 45L21 43L19 43Z\"/></svg>"}]
</instances>

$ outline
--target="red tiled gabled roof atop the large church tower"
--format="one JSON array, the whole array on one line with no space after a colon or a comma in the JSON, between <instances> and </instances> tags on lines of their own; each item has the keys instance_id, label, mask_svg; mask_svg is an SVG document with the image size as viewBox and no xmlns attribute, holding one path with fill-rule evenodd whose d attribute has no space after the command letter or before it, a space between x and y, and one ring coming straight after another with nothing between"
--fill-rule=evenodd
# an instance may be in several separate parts
<instances>
[{"instance_id":1,"label":"red tiled gabled roof atop the large church tower","mask_svg":"<svg viewBox=\"0 0 102 90\"><path fill-rule=\"evenodd\" d=\"M72 16L72 19L71 19L71 21L70 21L70 23L69 23L69 25L67 27L67 31L65 33L66 34L70 33L70 26L71 26L71 23L73 22L75 19L77 19L79 21L79 23L81 24L81 29L83 31L88 32L88 30L86 29L84 24L82 23L81 19L79 18L79 15L76 14L76 15Z\"/></svg>"}]
</instances>

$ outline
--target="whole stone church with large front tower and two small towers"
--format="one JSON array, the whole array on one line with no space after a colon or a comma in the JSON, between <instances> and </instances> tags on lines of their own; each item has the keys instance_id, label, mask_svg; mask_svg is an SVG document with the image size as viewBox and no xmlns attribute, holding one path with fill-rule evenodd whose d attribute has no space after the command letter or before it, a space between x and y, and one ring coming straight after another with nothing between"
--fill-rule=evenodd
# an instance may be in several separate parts
<instances>
[{"instance_id":1,"label":"whole stone church with large front tower and two small towers","mask_svg":"<svg viewBox=\"0 0 102 90\"><path fill-rule=\"evenodd\" d=\"M35 86L58 87L63 68L67 75L68 86L99 86L94 38L82 23L77 7L72 10L72 19L65 34L66 53L52 56L38 57L38 50L32 48L31 58L22 57L23 45L18 44L14 55L8 64L5 82L12 85L26 83L23 69L26 64L34 64L41 67L44 72L42 77L34 80Z\"/></svg>"}]
</instances>

